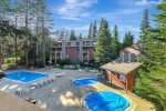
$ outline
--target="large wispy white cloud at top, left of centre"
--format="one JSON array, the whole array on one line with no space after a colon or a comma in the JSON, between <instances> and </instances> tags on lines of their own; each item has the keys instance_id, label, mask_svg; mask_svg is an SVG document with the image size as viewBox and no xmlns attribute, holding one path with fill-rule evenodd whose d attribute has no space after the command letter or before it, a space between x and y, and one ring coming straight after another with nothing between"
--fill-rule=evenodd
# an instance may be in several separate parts
<instances>
[{"instance_id":1,"label":"large wispy white cloud at top, left of centre","mask_svg":"<svg viewBox=\"0 0 166 111\"><path fill-rule=\"evenodd\" d=\"M90 17L91 13L86 10L97 0L65 0L65 2L58 8L58 14L62 19L81 20L82 18Z\"/></svg>"}]
</instances>

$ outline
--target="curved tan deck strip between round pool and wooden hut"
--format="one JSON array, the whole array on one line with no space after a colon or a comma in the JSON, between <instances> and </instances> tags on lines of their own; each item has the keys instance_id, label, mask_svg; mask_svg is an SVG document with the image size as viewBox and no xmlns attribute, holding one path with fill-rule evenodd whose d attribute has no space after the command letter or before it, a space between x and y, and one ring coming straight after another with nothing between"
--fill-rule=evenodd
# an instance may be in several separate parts
<instances>
[{"instance_id":1,"label":"curved tan deck strip between round pool and wooden hut","mask_svg":"<svg viewBox=\"0 0 166 111\"><path fill-rule=\"evenodd\" d=\"M100 82L97 84L93 84L92 87L97 89L97 91L114 91L127 98L131 102L131 107L127 109L127 111L155 111L154 104L152 104L149 101L141 99L131 91L126 93L124 88L122 88L116 81L113 81L113 84L110 84L108 82Z\"/></svg>"}]
</instances>

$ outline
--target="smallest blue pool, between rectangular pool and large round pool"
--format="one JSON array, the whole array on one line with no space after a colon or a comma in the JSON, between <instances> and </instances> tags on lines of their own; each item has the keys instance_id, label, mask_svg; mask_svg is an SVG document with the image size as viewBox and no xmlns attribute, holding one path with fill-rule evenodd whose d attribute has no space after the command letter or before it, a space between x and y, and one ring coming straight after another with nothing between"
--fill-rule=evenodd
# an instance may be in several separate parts
<instances>
[{"instance_id":1,"label":"smallest blue pool, between rectangular pool and large round pool","mask_svg":"<svg viewBox=\"0 0 166 111\"><path fill-rule=\"evenodd\" d=\"M94 84L96 82L98 82L98 81L93 78L82 78L82 79L74 80L73 84L80 87L80 85Z\"/></svg>"}]
</instances>

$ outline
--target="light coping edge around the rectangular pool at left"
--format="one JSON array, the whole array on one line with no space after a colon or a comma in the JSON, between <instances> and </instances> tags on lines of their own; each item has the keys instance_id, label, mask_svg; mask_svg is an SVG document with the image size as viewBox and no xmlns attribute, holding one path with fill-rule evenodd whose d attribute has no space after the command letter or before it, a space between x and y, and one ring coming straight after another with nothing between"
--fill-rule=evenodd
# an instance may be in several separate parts
<instances>
[{"instance_id":1,"label":"light coping edge around the rectangular pool at left","mask_svg":"<svg viewBox=\"0 0 166 111\"><path fill-rule=\"evenodd\" d=\"M24 72L31 72L31 73L34 73L32 71L25 71L25 70L19 70L19 71L24 71ZM19 72L19 71L12 71L12 72ZM12 73L12 72L8 72L8 73ZM35 73L39 73L39 74L46 74L46 73L41 73L41 72L37 72ZM44 79L44 78L49 78L49 74L46 74L45 77L42 77L42 78L39 78L39 79L35 79L35 80L32 80L32 81L29 81L29 82L21 82L21 81L17 81L17 80L12 80L12 79L8 79L8 78L3 78L6 80L10 80L10 81L14 81L14 82L18 82L18 83L32 83L34 81L38 81L38 80L41 80L41 79Z\"/></svg>"}]
</instances>

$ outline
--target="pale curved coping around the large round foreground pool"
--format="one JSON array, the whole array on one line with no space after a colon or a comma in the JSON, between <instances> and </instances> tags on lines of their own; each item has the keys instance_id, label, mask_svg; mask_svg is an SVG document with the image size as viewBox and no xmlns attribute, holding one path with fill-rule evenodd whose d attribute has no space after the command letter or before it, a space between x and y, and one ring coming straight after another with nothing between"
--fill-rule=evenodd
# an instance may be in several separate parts
<instances>
[{"instance_id":1,"label":"pale curved coping around the large round foreground pool","mask_svg":"<svg viewBox=\"0 0 166 111\"><path fill-rule=\"evenodd\" d=\"M92 93L97 93L97 92L103 92L103 91L108 91L108 90L101 90L101 91L96 91L96 92L92 92ZM131 110L133 107L132 107L132 102L131 102L131 99L126 98L125 95L118 93L118 92L115 92L115 91L108 91L108 92L114 92L114 93L117 93L120 95L122 95L123 98L125 98L126 100L128 100L129 102L129 107L127 109L125 109L124 111L135 111L135 109ZM87 93L86 95L84 95L82 99L84 100L89 94L92 94L92 93ZM89 111L93 111L91 109L89 109L89 107L86 105L85 101L83 101L83 103L85 104L86 109ZM132 107L132 108L131 108ZM136 108L136 107L135 107Z\"/></svg>"}]
</instances>

